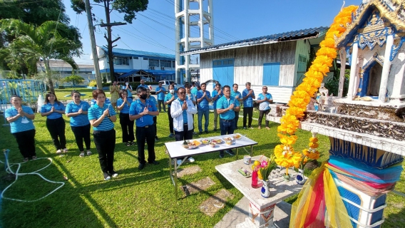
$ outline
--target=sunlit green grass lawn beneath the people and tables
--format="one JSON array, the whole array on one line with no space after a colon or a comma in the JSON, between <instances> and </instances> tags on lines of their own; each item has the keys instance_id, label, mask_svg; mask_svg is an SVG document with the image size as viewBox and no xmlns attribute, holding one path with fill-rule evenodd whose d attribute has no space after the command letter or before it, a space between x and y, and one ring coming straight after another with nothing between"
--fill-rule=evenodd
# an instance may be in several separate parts
<instances>
[{"instance_id":1,"label":"sunlit green grass lawn beneath the people and tables","mask_svg":"<svg viewBox=\"0 0 405 228\"><path fill-rule=\"evenodd\" d=\"M80 89L80 91L86 95L91 94L91 90L88 89ZM68 94L70 90L57 90L56 93L61 100L62 94ZM117 121L114 165L120 175L108 182L103 180L93 142L91 148L94 154L89 157L78 157L79 151L68 125L68 118L65 117L69 152L66 156L59 157L55 154L45 120L46 118L36 114L36 152L39 157L51 157L53 164L40 173L48 180L64 181L66 184L38 202L2 200L1 227L213 227L243 197L215 170L215 165L231 162L235 157L225 156L220 159L218 153L214 152L196 156L193 165L200 166L202 172L180 178L179 185L195 182L204 177L210 177L215 185L188 197L183 197L183 192L179 191L180 199L174 199L174 189L169 177L168 155L165 155L164 147L164 142L173 140L168 138L167 113L161 113L158 116L160 140L155 144L155 152L160 165L146 165L142 171L138 171L137 168L137 147L123 145L121 128ZM210 133L202 137L219 134L212 132L212 113L210 120ZM242 118L239 121L239 126L241 125ZM255 155L270 155L278 143L277 125L270 122L271 130L237 130L236 132L258 142L254 147ZM257 128L257 120L253 120L253 127ZM22 157L15 139L9 133L9 128L0 128L0 134L2 135L0 145L11 150L9 161L21 162ZM310 133L299 130L297 135L299 140L295 146L296 150L307 147ZM319 141L319 150L322 152L319 160L327 160L329 139L319 135ZM240 151L243 152L243 150ZM31 161L22 165L21 172L37 170L47 164L47 160ZM68 180L64 180L63 176L68 177ZM1 171L0 177L3 177L0 179L1 189L11 184L12 180L6 178L6 172ZM16 185L13 185L5 196L36 199L48 194L53 187L57 185L29 175L19 177ZM230 191L235 197L230 199L225 208L220 209L213 217L200 212L199 205L222 188ZM396 190L405 192L404 173ZM389 207L384 210L386 217L384 227L405 227L403 201L402 197L389 194L387 200ZM287 202L294 202L294 197L290 197Z\"/></svg>"}]
</instances>

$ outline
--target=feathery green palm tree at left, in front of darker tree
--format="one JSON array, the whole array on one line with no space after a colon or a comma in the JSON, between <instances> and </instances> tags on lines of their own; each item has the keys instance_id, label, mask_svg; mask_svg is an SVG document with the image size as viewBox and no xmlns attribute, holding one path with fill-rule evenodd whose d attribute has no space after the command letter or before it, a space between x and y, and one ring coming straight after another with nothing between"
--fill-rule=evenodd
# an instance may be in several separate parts
<instances>
[{"instance_id":1,"label":"feathery green palm tree at left, in front of darker tree","mask_svg":"<svg viewBox=\"0 0 405 228\"><path fill-rule=\"evenodd\" d=\"M70 64L73 70L78 68L73 56L80 56L81 46L68 38L63 38L58 32L59 30L67 32L68 26L65 24L46 21L41 26L34 26L16 19L3 19L0 20L0 24L0 32L16 37L9 46L4 48L20 53L27 63L43 61L49 89L52 92L54 88L49 67L50 59L63 60ZM4 48L0 48L0 51L4 51Z\"/></svg>"}]
</instances>

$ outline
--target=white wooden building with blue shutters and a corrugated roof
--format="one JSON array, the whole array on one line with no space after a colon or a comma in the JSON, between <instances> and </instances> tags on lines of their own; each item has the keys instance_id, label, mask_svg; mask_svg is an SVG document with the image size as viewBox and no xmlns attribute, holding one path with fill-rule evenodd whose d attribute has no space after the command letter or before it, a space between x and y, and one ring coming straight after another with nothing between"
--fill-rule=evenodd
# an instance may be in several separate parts
<instances>
[{"instance_id":1,"label":"white wooden building with blue shutters and a corrugated roof","mask_svg":"<svg viewBox=\"0 0 405 228\"><path fill-rule=\"evenodd\" d=\"M294 88L301 83L311 47L319 46L327 27L277 33L232 43L184 51L183 56L200 54L200 81L213 79L222 86L252 83L256 94L269 88L273 100L288 103ZM209 88L210 89L210 88Z\"/></svg>"}]
</instances>

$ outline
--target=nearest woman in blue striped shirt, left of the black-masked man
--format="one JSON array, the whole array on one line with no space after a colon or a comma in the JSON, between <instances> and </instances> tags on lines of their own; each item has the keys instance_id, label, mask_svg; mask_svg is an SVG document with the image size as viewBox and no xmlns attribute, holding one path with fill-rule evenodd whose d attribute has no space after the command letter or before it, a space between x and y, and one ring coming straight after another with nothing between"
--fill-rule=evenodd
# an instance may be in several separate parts
<instances>
[{"instance_id":1,"label":"nearest woman in blue striped shirt, left of the black-masked man","mask_svg":"<svg viewBox=\"0 0 405 228\"><path fill-rule=\"evenodd\" d=\"M116 111L113 105L106 104L106 93L103 90L93 90L96 104L88 109L88 121L93 126L93 139L98 152L98 160L103 171L104 180L118 177L114 171L114 149L116 148Z\"/></svg>"}]
</instances>

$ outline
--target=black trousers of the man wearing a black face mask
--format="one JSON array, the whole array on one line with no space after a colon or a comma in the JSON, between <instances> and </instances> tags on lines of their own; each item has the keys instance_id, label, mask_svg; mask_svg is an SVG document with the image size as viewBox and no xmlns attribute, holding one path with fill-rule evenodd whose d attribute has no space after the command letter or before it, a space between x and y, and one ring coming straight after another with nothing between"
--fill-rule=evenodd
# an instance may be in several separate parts
<instances>
[{"instance_id":1,"label":"black trousers of the man wearing a black face mask","mask_svg":"<svg viewBox=\"0 0 405 228\"><path fill-rule=\"evenodd\" d=\"M145 164L145 141L148 143L148 162L154 162L155 157L155 128L153 125L136 127L136 145L138 145L138 162Z\"/></svg>"}]
</instances>

